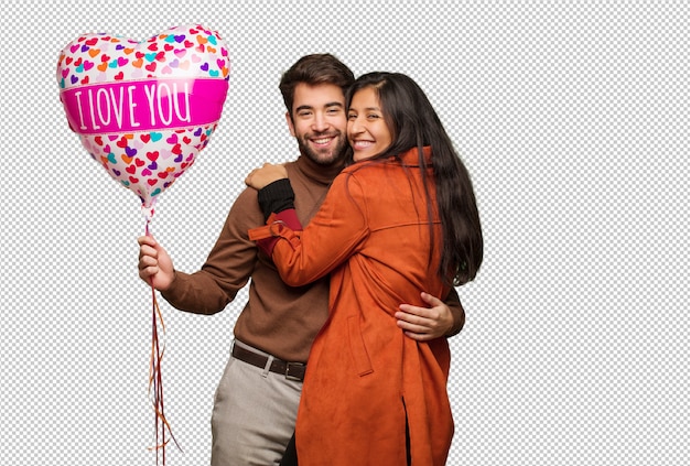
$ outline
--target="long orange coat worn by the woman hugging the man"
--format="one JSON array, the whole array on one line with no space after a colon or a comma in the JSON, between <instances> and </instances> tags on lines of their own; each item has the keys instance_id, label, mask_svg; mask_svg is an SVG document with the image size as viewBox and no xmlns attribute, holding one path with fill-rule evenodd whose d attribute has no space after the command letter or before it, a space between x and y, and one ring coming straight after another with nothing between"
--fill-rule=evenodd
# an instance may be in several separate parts
<instances>
[{"instance_id":1,"label":"long orange coat worn by the woman hugging the man","mask_svg":"<svg viewBox=\"0 0 690 466\"><path fill-rule=\"evenodd\" d=\"M406 337L393 316L401 303L423 306L420 291L449 292L436 273L441 227L431 171L430 258L417 150L402 160L345 169L299 236L280 224L262 227L287 239L273 238L285 283L331 273L331 314L312 346L298 412L300 466L406 465L406 424L411 464L445 464L453 436L448 342Z\"/></svg>"}]
</instances>

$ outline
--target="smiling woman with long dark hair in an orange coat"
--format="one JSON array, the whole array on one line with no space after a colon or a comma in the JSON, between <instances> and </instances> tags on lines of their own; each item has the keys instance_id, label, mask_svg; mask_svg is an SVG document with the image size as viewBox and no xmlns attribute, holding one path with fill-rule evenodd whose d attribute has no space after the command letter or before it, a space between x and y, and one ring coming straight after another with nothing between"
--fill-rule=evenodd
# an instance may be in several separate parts
<instances>
[{"instance_id":1,"label":"smiling woman with long dark hair in an orange coat","mask_svg":"<svg viewBox=\"0 0 690 466\"><path fill-rule=\"evenodd\" d=\"M418 290L473 280L483 239L470 175L424 93L370 73L347 94L354 162L301 232L279 166L255 171L268 225L250 237L285 283L331 273L330 318L309 359L295 429L300 465L443 465L453 436L445 338L396 325Z\"/></svg>"}]
</instances>

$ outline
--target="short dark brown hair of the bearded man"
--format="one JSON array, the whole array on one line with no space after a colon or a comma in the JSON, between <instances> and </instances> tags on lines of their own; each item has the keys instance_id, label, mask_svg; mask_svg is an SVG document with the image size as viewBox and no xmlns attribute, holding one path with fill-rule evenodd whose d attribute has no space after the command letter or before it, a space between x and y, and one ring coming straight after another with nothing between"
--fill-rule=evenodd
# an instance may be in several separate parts
<instances>
[{"instance_id":1,"label":"short dark brown hair of the bearded man","mask_svg":"<svg viewBox=\"0 0 690 466\"><path fill-rule=\"evenodd\" d=\"M353 72L330 53L304 55L298 59L280 78L280 94L290 118L294 102L294 88L303 83L310 86L333 84L343 89L343 95L355 80Z\"/></svg>"}]
</instances>

